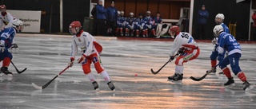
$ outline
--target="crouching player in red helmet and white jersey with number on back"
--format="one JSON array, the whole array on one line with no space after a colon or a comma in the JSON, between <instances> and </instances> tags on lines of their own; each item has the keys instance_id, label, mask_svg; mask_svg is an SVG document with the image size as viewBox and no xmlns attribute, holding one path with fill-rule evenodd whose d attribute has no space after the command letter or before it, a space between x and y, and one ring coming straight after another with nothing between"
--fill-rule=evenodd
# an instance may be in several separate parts
<instances>
[{"instance_id":1,"label":"crouching player in red helmet and white jersey with number on back","mask_svg":"<svg viewBox=\"0 0 256 109\"><path fill-rule=\"evenodd\" d=\"M174 45L170 50L170 61L174 60L175 54L178 53L179 56L175 60L176 66L174 76L169 76L168 80L181 81L183 79L183 63L197 58L200 53L200 49L190 33L180 32L177 25L171 26L169 33L171 37L175 38Z\"/></svg>"}]
</instances>

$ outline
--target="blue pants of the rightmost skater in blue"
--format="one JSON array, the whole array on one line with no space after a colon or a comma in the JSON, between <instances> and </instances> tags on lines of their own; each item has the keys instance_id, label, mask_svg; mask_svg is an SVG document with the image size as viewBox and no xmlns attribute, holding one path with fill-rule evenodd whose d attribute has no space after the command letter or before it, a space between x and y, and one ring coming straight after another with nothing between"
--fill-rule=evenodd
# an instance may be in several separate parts
<instances>
[{"instance_id":1,"label":"blue pants of the rightmost skater in blue","mask_svg":"<svg viewBox=\"0 0 256 109\"><path fill-rule=\"evenodd\" d=\"M219 68L223 69L226 68L226 65L230 64L234 75L237 75L238 72L242 72L239 67L239 59L241 57L240 53L234 53L229 56L226 56L223 60L221 60L218 64Z\"/></svg>"}]
</instances>

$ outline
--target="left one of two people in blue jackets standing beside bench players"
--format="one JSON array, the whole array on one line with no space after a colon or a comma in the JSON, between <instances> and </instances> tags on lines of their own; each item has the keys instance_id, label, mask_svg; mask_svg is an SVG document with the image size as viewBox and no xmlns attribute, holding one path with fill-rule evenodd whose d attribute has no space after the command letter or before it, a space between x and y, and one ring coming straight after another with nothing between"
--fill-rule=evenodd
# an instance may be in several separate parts
<instances>
[{"instance_id":1,"label":"left one of two people in blue jackets standing beside bench players","mask_svg":"<svg viewBox=\"0 0 256 109\"><path fill-rule=\"evenodd\" d=\"M96 6L97 13L97 35L104 35L105 32L105 20L106 20L106 9L102 6L102 0L98 0L98 5Z\"/></svg>"}]
</instances>

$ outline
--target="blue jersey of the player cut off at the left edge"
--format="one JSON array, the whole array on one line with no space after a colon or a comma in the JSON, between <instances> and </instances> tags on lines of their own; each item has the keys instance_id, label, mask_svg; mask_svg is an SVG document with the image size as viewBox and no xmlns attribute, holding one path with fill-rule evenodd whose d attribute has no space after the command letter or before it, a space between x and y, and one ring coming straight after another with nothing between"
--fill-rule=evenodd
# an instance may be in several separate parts
<instances>
[{"instance_id":1,"label":"blue jersey of the player cut off at the left edge","mask_svg":"<svg viewBox=\"0 0 256 109\"><path fill-rule=\"evenodd\" d=\"M1 37L0 37L1 42L4 41L6 49L9 49L13 43L16 30L14 28L6 28L6 29L3 29L0 34L1 34Z\"/></svg>"}]
</instances>

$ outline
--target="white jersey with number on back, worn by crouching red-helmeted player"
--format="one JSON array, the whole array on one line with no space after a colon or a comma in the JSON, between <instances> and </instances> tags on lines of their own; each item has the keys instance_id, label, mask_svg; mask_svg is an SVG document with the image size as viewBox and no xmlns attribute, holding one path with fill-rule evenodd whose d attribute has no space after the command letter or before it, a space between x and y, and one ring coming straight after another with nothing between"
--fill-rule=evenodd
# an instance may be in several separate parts
<instances>
[{"instance_id":1,"label":"white jersey with number on back, worn by crouching red-helmeted player","mask_svg":"<svg viewBox=\"0 0 256 109\"><path fill-rule=\"evenodd\" d=\"M174 39L174 45L170 50L170 56L174 56L174 53L178 51L178 49L184 47L185 49L197 49L198 45L194 41L194 38L190 35L190 33L181 32Z\"/></svg>"}]
</instances>

